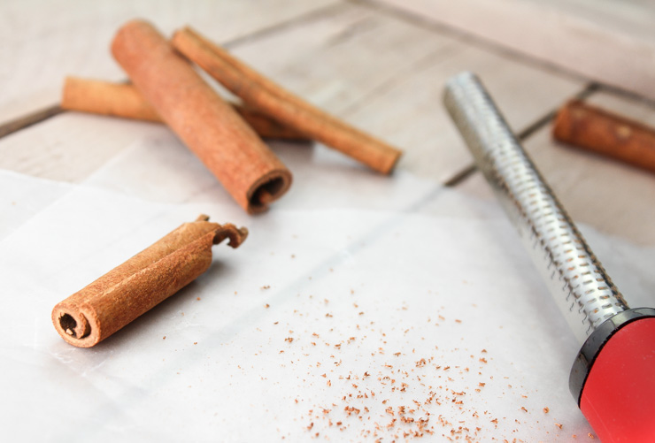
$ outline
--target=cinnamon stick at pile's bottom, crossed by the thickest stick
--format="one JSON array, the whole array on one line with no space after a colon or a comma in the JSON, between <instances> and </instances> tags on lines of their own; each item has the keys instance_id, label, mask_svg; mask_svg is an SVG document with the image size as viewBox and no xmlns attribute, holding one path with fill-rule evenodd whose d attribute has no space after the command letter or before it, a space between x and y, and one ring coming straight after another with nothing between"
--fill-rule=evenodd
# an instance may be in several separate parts
<instances>
[{"instance_id":1,"label":"cinnamon stick at pile's bottom, crossed by the thickest stick","mask_svg":"<svg viewBox=\"0 0 655 443\"><path fill-rule=\"evenodd\" d=\"M308 141L304 134L281 125L261 112L250 110L238 103L229 104L262 138ZM133 85L125 83L66 77L61 107L69 111L153 122L163 121L139 91Z\"/></svg>"}]
</instances>

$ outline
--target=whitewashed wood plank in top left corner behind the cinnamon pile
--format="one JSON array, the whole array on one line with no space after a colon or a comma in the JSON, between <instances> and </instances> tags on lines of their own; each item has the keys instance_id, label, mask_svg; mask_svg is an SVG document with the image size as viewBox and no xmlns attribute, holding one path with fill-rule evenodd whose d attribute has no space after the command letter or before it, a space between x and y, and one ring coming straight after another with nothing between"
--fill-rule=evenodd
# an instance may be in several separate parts
<instances>
[{"instance_id":1,"label":"whitewashed wood plank in top left corner behind the cinnamon pile","mask_svg":"<svg viewBox=\"0 0 655 443\"><path fill-rule=\"evenodd\" d=\"M336 0L4 1L0 3L0 124L58 103L65 75L120 80L109 52L129 19L162 32L191 25L218 42L245 37Z\"/></svg>"}]
</instances>

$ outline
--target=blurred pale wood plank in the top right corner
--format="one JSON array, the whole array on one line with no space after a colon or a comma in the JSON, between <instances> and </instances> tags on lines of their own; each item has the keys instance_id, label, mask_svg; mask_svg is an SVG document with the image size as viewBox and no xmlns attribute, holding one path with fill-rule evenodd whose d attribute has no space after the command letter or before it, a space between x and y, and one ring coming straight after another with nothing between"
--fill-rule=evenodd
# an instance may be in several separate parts
<instances>
[{"instance_id":1,"label":"blurred pale wood plank in the top right corner","mask_svg":"<svg viewBox=\"0 0 655 443\"><path fill-rule=\"evenodd\" d=\"M655 98L655 5L618 0L373 0ZM591 14L590 11L595 13Z\"/></svg>"}]
</instances>

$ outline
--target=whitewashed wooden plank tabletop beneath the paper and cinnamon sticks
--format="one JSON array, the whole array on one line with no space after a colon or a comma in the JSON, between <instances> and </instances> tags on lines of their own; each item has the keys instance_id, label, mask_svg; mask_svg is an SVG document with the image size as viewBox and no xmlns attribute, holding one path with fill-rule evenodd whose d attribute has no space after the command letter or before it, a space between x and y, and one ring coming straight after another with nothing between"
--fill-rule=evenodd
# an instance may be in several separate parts
<instances>
[{"instance_id":1,"label":"whitewashed wooden plank tabletop beneath the paper and cinnamon sticks","mask_svg":"<svg viewBox=\"0 0 655 443\"><path fill-rule=\"evenodd\" d=\"M0 5L0 168L82 183L143 138L148 124L57 108L66 75L126 78L109 45L123 22L143 17L167 34L185 24L196 27L284 87L404 149L399 172L493 202L442 104L444 81L473 71L575 221L655 247L655 225L649 221L655 218L655 175L560 146L550 135L553 112L576 95L651 125L653 103L445 26L425 11L426 2L404 4L5 2ZM5 192L19 195L20 190Z\"/></svg>"}]
</instances>

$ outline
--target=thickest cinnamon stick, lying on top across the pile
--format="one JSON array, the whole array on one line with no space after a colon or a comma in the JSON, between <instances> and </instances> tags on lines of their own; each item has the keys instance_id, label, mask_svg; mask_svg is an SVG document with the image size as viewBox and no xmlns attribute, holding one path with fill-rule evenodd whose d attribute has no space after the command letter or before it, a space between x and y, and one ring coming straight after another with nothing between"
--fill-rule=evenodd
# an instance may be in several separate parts
<instances>
[{"instance_id":1,"label":"thickest cinnamon stick, lying on top across the pile","mask_svg":"<svg viewBox=\"0 0 655 443\"><path fill-rule=\"evenodd\" d=\"M291 173L150 23L119 29L112 54L157 114L250 214L289 189Z\"/></svg>"}]
</instances>

